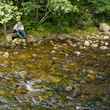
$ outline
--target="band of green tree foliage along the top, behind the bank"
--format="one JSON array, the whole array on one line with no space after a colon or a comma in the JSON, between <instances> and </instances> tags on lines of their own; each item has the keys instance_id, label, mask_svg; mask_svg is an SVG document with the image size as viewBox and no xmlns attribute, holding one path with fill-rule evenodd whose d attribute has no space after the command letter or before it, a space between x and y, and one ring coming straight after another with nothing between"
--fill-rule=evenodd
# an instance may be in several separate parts
<instances>
[{"instance_id":1,"label":"band of green tree foliage along the top, behind the bank","mask_svg":"<svg viewBox=\"0 0 110 110\"><path fill-rule=\"evenodd\" d=\"M1 0L0 23L23 13L27 30L43 23L59 29L65 26L83 28L110 19L109 0ZM11 3L10 3L11 2ZM20 12L19 12L19 11ZM17 17L19 18L19 17Z\"/></svg>"}]
</instances>

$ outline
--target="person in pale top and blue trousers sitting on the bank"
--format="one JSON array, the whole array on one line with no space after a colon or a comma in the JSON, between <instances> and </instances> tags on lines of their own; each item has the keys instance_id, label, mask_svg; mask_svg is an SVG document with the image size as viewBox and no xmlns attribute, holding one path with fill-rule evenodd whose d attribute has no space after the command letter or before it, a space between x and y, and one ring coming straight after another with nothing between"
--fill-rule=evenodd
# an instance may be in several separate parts
<instances>
[{"instance_id":1,"label":"person in pale top and blue trousers sitting on the bank","mask_svg":"<svg viewBox=\"0 0 110 110\"><path fill-rule=\"evenodd\" d=\"M16 33L17 37L24 38L24 39L26 38L26 33L24 31L24 26L20 21L18 21L14 25L13 31L14 31L14 33Z\"/></svg>"}]
</instances>

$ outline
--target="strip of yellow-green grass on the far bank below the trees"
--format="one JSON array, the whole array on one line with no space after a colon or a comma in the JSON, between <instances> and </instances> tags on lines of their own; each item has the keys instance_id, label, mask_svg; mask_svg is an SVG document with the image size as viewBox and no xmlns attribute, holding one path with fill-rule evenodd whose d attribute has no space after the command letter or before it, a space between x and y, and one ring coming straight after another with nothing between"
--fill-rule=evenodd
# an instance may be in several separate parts
<instances>
[{"instance_id":1,"label":"strip of yellow-green grass on the far bank below the trees","mask_svg":"<svg viewBox=\"0 0 110 110\"><path fill-rule=\"evenodd\" d=\"M78 29L76 27L58 27L44 24L39 27L33 28L29 33L36 37L47 37L56 33L66 33L72 36L86 36L97 32L98 29L95 26L86 27L85 29Z\"/></svg>"}]
</instances>

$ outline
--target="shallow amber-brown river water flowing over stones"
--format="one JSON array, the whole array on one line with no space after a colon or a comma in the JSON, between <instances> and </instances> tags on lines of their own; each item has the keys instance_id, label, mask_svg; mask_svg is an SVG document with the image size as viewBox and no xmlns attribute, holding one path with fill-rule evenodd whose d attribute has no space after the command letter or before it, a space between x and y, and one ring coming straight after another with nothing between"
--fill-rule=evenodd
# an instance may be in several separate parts
<instances>
[{"instance_id":1,"label":"shallow amber-brown river water flowing over stones","mask_svg":"<svg viewBox=\"0 0 110 110\"><path fill-rule=\"evenodd\" d=\"M1 47L0 110L110 110L107 43L107 49L79 40Z\"/></svg>"}]
</instances>

